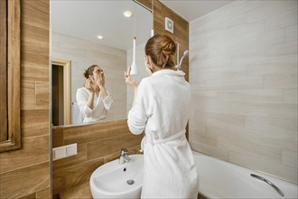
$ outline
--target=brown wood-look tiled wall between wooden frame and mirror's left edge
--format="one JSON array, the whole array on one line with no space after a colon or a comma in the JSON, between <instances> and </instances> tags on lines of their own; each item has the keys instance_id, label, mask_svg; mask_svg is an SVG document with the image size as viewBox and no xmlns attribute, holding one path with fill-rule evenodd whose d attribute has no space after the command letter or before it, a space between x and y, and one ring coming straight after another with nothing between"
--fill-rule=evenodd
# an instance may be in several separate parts
<instances>
[{"instance_id":1,"label":"brown wood-look tiled wall between wooden frame and mirror's left edge","mask_svg":"<svg viewBox=\"0 0 298 199\"><path fill-rule=\"evenodd\" d=\"M22 148L0 154L0 198L51 198L49 1L21 1Z\"/></svg>"}]
</instances>

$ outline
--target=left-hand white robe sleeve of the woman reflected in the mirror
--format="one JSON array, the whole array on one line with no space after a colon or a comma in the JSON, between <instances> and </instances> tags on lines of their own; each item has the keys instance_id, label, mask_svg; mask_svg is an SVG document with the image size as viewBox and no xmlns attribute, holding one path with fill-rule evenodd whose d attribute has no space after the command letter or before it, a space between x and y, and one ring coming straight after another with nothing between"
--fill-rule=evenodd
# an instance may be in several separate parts
<instances>
[{"instance_id":1,"label":"left-hand white robe sleeve of the woman reflected in the mirror","mask_svg":"<svg viewBox=\"0 0 298 199\"><path fill-rule=\"evenodd\" d=\"M76 99L79 106L79 110L83 114L84 118L92 117L92 113L93 113L93 109L90 109L87 106L88 96L89 94L87 90L84 90L83 88L79 88L77 90Z\"/></svg>"}]
</instances>

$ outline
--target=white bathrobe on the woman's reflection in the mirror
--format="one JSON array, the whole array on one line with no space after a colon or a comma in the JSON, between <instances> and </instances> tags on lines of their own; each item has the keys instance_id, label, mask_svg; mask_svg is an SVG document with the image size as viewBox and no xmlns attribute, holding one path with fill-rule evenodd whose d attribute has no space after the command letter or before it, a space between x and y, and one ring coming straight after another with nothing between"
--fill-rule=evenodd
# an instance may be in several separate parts
<instances>
[{"instance_id":1,"label":"white bathrobe on the woman's reflection in the mirror","mask_svg":"<svg viewBox=\"0 0 298 199\"><path fill-rule=\"evenodd\" d=\"M106 98L101 96L101 92L99 92L99 95L94 95L93 109L90 109L87 106L89 95L91 95L91 93L85 87L79 88L77 90L76 99L79 110L84 117L83 122L92 122L107 118L107 110L112 108L114 102L109 92L107 92Z\"/></svg>"}]
</instances>

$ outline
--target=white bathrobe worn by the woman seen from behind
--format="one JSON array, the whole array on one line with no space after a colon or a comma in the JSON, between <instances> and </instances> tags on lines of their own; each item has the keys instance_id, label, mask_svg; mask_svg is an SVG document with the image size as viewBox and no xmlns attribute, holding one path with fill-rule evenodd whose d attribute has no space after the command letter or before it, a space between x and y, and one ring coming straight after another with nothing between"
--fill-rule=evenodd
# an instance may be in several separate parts
<instances>
[{"instance_id":1,"label":"white bathrobe worn by the woman seen from behind","mask_svg":"<svg viewBox=\"0 0 298 199\"><path fill-rule=\"evenodd\" d=\"M197 198L198 171L185 137L191 87L183 71L161 70L144 78L127 124L137 135L144 130L142 198Z\"/></svg>"}]
</instances>

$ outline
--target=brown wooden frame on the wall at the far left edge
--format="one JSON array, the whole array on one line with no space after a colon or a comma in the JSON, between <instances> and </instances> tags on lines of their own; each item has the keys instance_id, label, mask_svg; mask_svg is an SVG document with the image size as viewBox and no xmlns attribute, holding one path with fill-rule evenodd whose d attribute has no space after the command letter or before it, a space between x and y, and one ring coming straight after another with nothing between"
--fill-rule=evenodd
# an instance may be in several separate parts
<instances>
[{"instance_id":1,"label":"brown wooden frame on the wall at the far left edge","mask_svg":"<svg viewBox=\"0 0 298 199\"><path fill-rule=\"evenodd\" d=\"M0 152L21 148L21 8L20 0L5 0L1 2L1 10L6 7L6 19L1 15L1 45L5 45L5 61L1 61L1 67L6 67L5 90L7 103L1 108L1 116L5 119L5 129L1 127L0 135L6 137L0 142ZM6 25L4 25L7 24ZM5 56L5 55L4 55ZM5 63L3 66L2 64ZM1 121L2 122L2 121Z\"/></svg>"}]
</instances>

